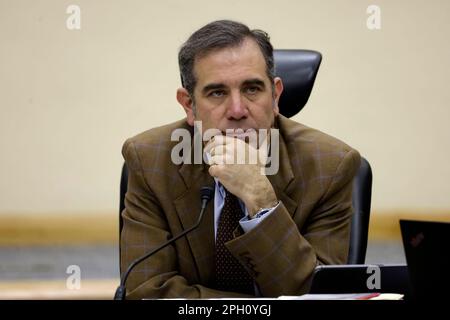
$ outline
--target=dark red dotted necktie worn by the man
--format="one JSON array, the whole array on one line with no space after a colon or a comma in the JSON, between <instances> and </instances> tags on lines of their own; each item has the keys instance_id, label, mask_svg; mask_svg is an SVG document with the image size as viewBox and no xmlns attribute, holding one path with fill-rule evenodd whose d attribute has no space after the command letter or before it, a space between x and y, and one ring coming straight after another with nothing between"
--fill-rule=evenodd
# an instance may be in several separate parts
<instances>
[{"instance_id":1,"label":"dark red dotted necktie worn by the man","mask_svg":"<svg viewBox=\"0 0 450 320\"><path fill-rule=\"evenodd\" d=\"M216 287L223 291L254 294L252 277L225 247L225 243L233 239L233 231L243 216L238 198L226 191L216 236Z\"/></svg>"}]
</instances>

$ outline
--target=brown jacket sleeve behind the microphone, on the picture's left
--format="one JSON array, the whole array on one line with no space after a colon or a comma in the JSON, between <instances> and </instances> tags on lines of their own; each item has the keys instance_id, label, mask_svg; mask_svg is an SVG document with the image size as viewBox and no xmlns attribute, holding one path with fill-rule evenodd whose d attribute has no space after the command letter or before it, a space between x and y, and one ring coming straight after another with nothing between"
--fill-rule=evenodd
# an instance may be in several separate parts
<instances>
[{"instance_id":1,"label":"brown jacket sleeve behind the microphone, on the picture's left","mask_svg":"<svg viewBox=\"0 0 450 320\"><path fill-rule=\"evenodd\" d=\"M128 188L122 212L121 270L172 237L165 214L146 183L134 143L125 142L122 154L128 167ZM126 283L127 299L248 297L190 284L177 270L175 247L169 245L137 265Z\"/></svg>"}]
</instances>

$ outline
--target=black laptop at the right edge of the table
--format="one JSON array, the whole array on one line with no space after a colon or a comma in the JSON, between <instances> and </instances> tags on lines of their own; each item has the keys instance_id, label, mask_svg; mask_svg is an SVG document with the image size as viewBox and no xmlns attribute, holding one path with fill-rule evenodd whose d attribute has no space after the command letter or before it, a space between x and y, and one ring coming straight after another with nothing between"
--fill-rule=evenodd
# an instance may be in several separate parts
<instances>
[{"instance_id":1,"label":"black laptop at the right edge of the table","mask_svg":"<svg viewBox=\"0 0 450 320\"><path fill-rule=\"evenodd\" d=\"M450 223L400 220L414 297L450 298Z\"/></svg>"}]
</instances>

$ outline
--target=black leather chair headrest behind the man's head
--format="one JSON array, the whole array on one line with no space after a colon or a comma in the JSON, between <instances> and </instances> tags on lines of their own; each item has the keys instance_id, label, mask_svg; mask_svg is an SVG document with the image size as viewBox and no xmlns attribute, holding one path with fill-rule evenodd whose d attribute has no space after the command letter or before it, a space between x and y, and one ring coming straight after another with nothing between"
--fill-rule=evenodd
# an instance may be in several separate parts
<instances>
[{"instance_id":1,"label":"black leather chair headrest behind the man's head","mask_svg":"<svg viewBox=\"0 0 450 320\"><path fill-rule=\"evenodd\" d=\"M285 117L292 117L308 102L316 80L322 55L312 50L281 50L273 52L275 74L283 80L284 91L278 106Z\"/></svg>"}]
</instances>

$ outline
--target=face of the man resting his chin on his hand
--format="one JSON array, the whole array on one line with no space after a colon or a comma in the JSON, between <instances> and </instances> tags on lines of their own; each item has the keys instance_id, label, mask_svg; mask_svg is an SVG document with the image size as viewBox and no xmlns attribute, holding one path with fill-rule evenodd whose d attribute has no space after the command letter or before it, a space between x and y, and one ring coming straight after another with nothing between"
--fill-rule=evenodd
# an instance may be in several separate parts
<instances>
[{"instance_id":1,"label":"face of the man resting his chin on his hand","mask_svg":"<svg viewBox=\"0 0 450 320\"><path fill-rule=\"evenodd\" d=\"M273 126L283 85L281 79L275 78L273 90L264 56L253 40L196 59L194 74L196 113L192 101L187 103L190 99L184 100L187 105L182 103L190 125L202 121L203 131L216 128L223 133L227 129Z\"/></svg>"}]
</instances>

